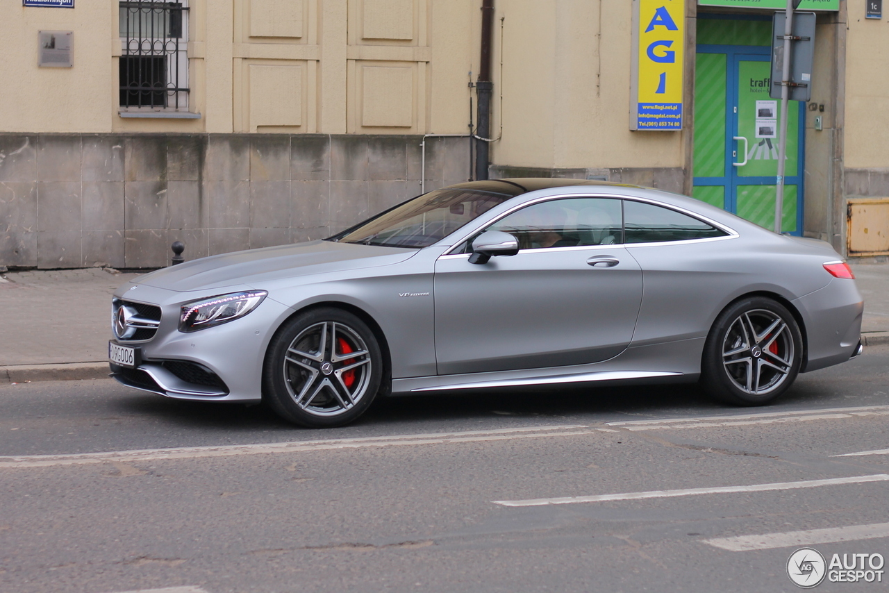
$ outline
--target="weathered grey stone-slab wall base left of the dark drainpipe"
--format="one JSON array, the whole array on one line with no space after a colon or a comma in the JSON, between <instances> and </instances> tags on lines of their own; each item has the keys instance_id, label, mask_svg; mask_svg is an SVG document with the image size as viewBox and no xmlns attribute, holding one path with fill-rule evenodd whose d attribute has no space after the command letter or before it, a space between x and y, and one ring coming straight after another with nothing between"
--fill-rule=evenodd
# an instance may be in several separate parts
<instances>
[{"instance_id":1,"label":"weathered grey stone-slab wall base left of the dark drainpipe","mask_svg":"<svg viewBox=\"0 0 889 593\"><path fill-rule=\"evenodd\" d=\"M469 179L469 140L0 134L0 266L159 268L330 236ZM425 152L425 159L424 159ZM425 171L425 175L423 172Z\"/></svg>"}]
</instances>

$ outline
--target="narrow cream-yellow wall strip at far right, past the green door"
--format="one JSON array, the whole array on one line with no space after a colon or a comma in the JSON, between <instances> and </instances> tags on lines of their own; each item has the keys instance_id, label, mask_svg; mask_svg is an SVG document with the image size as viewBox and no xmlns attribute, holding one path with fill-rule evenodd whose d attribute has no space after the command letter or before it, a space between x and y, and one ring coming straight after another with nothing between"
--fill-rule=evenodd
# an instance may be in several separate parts
<instances>
[{"instance_id":1,"label":"narrow cream-yellow wall strip at far right, past the green door","mask_svg":"<svg viewBox=\"0 0 889 593\"><path fill-rule=\"evenodd\" d=\"M883 18L864 18L865 0L846 0L845 166L889 166L889 36Z\"/></svg>"}]
</instances>

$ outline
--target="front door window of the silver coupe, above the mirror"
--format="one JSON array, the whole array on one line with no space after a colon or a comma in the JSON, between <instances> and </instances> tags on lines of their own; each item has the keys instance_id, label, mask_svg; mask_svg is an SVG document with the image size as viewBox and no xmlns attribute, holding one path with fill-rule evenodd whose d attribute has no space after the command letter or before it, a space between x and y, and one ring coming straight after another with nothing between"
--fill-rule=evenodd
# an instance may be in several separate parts
<instances>
[{"instance_id":1,"label":"front door window of the silver coupe, above the mirror","mask_svg":"<svg viewBox=\"0 0 889 593\"><path fill-rule=\"evenodd\" d=\"M513 212L485 230L516 236L521 249L622 242L621 200L579 197L550 200Z\"/></svg>"}]
</instances>

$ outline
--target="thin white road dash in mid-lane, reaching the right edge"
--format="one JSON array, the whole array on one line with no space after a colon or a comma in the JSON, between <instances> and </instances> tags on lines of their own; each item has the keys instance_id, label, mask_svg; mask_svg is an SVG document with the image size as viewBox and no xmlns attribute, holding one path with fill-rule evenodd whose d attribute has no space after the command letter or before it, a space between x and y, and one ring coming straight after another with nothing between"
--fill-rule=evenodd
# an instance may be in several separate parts
<instances>
[{"instance_id":1,"label":"thin white road dash in mid-lane, reaching the right edge","mask_svg":"<svg viewBox=\"0 0 889 593\"><path fill-rule=\"evenodd\" d=\"M773 484L754 484L747 486L717 486L714 488L685 488L683 490L651 490L641 493L596 494L593 496L565 496L563 498L539 498L527 501L492 501L504 507L542 507L549 504L574 504L577 502L605 501L637 501L644 498L673 498L676 496L694 496L698 494L730 494L756 493L769 490L796 490L797 488L817 488L843 484L861 484L863 482L885 482L889 474L873 474L871 476L831 477L824 480L805 480L802 482L776 482Z\"/></svg>"}]
</instances>

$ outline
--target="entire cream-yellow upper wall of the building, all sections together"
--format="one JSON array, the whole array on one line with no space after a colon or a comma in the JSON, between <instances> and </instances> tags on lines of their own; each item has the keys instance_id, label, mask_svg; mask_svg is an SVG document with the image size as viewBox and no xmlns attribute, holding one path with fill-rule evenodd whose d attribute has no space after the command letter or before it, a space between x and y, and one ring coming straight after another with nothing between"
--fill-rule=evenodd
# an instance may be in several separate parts
<instances>
[{"instance_id":1,"label":"entire cream-yellow upper wall of the building, all sections together","mask_svg":"<svg viewBox=\"0 0 889 593\"><path fill-rule=\"evenodd\" d=\"M853 168L889 164L889 144L873 133L889 130L889 79L880 76L889 36L885 19L864 20L864 1L848 0L845 166ZM480 0L190 4L189 107L201 117L181 120L118 116L116 0L77 0L74 10L0 3L0 132L468 131ZM503 132L493 162L684 166L686 134L629 131L631 6L497 0L491 133ZM73 68L37 67L40 29L74 31Z\"/></svg>"}]
</instances>

